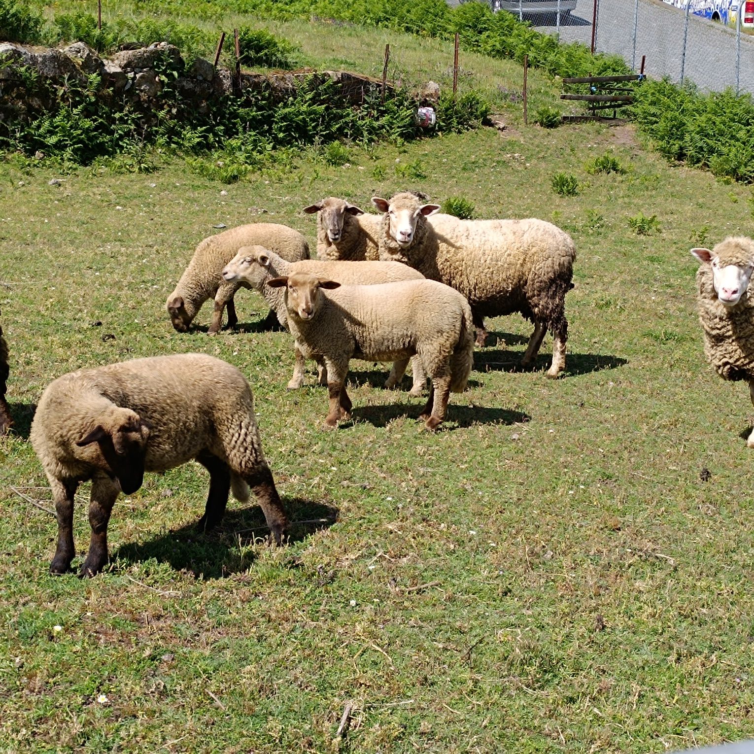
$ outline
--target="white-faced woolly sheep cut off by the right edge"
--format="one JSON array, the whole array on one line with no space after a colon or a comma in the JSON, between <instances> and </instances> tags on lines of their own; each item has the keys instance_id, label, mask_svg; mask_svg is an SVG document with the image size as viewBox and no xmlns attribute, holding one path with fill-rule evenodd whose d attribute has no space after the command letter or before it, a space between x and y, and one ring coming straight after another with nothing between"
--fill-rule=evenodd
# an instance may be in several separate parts
<instances>
[{"instance_id":1,"label":"white-faced woolly sheep cut off by the right edge","mask_svg":"<svg viewBox=\"0 0 754 754\"><path fill-rule=\"evenodd\" d=\"M754 271L754 241L729 236L713 250L694 248L697 308L704 332L704 354L726 380L745 380L754 403L754 297L749 280ZM746 440L754 448L754 431Z\"/></svg>"}]
</instances>

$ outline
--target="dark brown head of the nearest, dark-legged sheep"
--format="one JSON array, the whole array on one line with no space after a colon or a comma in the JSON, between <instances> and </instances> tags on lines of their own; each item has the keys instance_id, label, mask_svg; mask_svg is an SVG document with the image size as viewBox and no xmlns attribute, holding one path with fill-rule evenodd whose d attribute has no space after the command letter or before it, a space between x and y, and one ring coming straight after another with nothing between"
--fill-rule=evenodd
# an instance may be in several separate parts
<instances>
[{"instance_id":1,"label":"dark brown head of the nearest, dark-legged sheep","mask_svg":"<svg viewBox=\"0 0 754 754\"><path fill-rule=\"evenodd\" d=\"M94 428L84 434L78 445L97 443L105 467L126 495L136 492L144 481L144 458L152 425L135 411L112 406L95 419Z\"/></svg>"}]
</instances>

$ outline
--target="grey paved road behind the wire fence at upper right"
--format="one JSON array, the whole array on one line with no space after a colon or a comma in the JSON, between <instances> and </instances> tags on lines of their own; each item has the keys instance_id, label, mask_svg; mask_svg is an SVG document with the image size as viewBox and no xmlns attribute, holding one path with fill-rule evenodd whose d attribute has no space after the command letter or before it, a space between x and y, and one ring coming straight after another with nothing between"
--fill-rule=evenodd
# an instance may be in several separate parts
<instances>
[{"instance_id":1,"label":"grey paved road behind the wire fence at upper right","mask_svg":"<svg viewBox=\"0 0 754 754\"><path fill-rule=\"evenodd\" d=\"M596 48L601 52L633 59L632 0L599 0ZM590 44L592 38L593 0L578 0L567 23L560 27L562 41ZM636 69L646 55L645 72L654 78L669 75L673 81L681 77L684 12L659 0L639 0L636 33ZM554 33L552 17L530 17L536 28ZM549 24L544 26L544 24ZM754 93L754 37L741 35L740 90ZM691 15L688 23L688 44L684 67L690 78L702 89L721 91L736 85L736 33L720 23Z\"/></svg>"}]
</instances>

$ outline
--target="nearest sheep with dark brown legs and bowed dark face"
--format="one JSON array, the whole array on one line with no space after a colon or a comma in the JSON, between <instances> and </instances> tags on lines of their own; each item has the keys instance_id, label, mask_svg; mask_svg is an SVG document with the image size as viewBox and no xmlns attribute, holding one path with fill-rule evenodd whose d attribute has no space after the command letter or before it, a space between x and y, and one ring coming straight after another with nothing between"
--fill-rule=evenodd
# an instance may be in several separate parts
<instances>
[{"instance_id":1,"label":"nearest sheep with dark brown legs and bowed dark face","mask_svg":"<svg viewBox=\"0 0 754 754\"><path fill-rule=\"evenodd\" d=\"M30 439L57 512L52 574L67 572L75 554L73 500L81 482L92 480L92 534L79 575L93 576L108 559L107 525L118 493L136 492L145 471L192 458L210 472L201 530L220 522L229 489L246 501L251 488L277 544L286 531L251 389L238 369L214 357L156 356L63 375L44 390Z\"/></svg>"}]
</instances>

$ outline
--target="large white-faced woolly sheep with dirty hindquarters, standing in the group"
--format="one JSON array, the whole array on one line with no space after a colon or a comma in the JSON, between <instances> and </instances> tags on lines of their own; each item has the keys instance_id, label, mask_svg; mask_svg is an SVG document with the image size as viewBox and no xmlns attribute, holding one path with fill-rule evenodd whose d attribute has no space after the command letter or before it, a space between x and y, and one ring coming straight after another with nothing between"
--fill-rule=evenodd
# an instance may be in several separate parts
<instances>
[{"instance_id":1,"label":"large white-faced woolly sheep with dirty hindquarters, standing in the group","mask_svg":"<svg viewBox=\"0 0 754 754\"><path fill-rule=\"evenodd\" d=\"M372 202L385 213L380 259L395 259L440 280L468 299L477 327L477 345L486 336L484 317L519 311L535 325L522 360L534 363L544 334L553 333L553 361L547 377L566 366L566 293L571 290L575 247L569 234L550 222L461 220L421 204L415 195L397 194Z\"/></svg>"}]
</instances>

